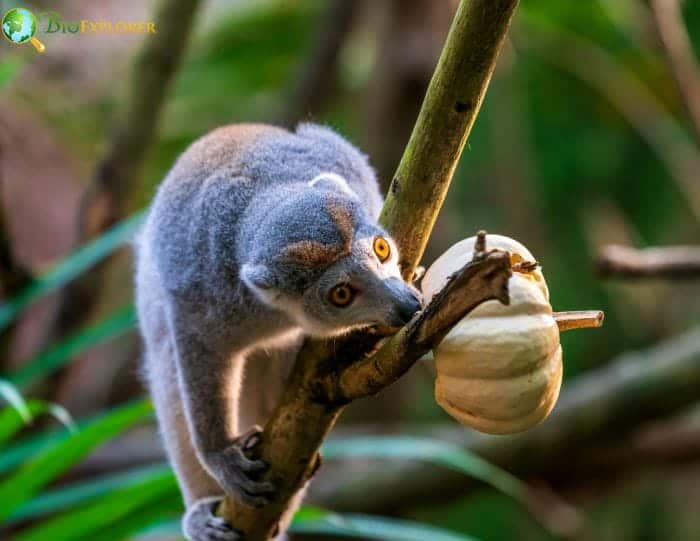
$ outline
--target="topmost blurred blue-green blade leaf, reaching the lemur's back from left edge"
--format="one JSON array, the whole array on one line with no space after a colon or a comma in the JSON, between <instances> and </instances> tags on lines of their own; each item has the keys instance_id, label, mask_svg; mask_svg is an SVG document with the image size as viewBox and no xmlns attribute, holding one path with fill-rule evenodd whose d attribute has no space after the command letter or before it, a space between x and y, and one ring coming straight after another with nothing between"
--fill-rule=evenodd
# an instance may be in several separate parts
<instances>
[{"instance_id":1,"label":"topmost blurred blue-green blade leaf, reaching the lemur's back from left edge","mask_svg":"<svg viewBox=\"0 0 700 541\"><path fill-rule=\"evenodd\" d=\"M145 212L139 212L115 225L97 239L73 252L52 270L29 284L17 296L0 305L0 330L7 328L30 304L70 282L131 239L141 226L144 217Z\"/></svg>"}]
</instances>

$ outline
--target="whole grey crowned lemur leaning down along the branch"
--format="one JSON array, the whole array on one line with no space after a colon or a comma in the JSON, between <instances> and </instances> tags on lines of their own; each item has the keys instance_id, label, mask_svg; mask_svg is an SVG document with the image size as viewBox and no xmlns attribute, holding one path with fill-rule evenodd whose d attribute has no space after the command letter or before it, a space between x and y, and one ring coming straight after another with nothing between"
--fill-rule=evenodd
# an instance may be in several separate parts
<instances>
[{"instance_id":1,"label":"whole grey crowned lemur leaning down along the branch","mask_svg":"<svg viewBox=\"0 0 700 541\"><path fill-rule=\"evenodd\" d=\"M224 493L274 498L249 451L301 337L397 327L420 308L377 225L381 203L367 158L312 124L219 128L160 186L136 241L136 297L192 541L243 538L215 515Z\"/></svg>"}]
</instances>

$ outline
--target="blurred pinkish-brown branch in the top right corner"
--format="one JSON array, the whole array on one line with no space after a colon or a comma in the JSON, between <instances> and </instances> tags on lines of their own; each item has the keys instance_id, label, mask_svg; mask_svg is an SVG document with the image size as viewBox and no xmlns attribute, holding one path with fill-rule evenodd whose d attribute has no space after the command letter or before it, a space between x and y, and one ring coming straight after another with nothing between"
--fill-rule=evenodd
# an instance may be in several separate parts
<instances>
[{"instance_id":1,"label":"blurred pinkish-brown branch in the top right corner","mask_svg":"<svg viewBox=\"0 0 700 541\"><path fill-rule=\"evenodd\" d=\"M681 0L649 0L656 30L700 147L700 67L685 29ZM696 171L697 172L697 171Z\"/></svg>"}]
</instances>

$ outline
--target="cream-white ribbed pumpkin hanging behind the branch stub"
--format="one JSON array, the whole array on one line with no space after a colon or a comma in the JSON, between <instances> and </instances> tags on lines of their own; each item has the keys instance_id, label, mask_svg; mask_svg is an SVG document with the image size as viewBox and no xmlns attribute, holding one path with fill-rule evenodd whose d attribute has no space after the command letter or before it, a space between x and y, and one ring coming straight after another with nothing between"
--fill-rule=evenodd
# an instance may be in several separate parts
<instances>
[{"instance_id":1,"label":"cream-white ribbed pumpkin hanging behind the branch stub","mask_svg":"<svg viewBox=\"0 0 700 541\"><path fill-rule=\"evenodd\" d=\"M422 281L426 302L472 260L476 238L458 242L428 269ZM539 267L528 265L533 255L500 235L487 235L486 246L511 254L510 304L483 303L435 348L435 399L462 424L510 434L539 423L554 407L562 351L547 283Z\"/></svg>"}]
</instances>

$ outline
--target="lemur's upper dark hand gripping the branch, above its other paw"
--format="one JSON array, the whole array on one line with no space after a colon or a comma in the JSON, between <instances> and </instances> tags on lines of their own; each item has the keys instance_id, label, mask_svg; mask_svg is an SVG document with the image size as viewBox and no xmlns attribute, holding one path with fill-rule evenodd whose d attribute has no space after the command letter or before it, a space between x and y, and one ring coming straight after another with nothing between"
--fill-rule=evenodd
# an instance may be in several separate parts
<instances>
[{"instance_id":1,"label":"lemur's upper dark hand gripping the branch, above its other paw","mask_svg":"<svg viewBox=\"0 0 700 541\"><path fill-rule=\"evenodd\" d=\"M251 428L209 460L212 473L224 492L233 494L251 507L263 507L270 503L276 490L275 485L269 481L257 480L267 470L268 464L247 456L260 442L261 434L259 426Z\"/></svg>"}]
</instances>

